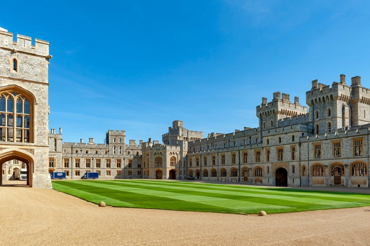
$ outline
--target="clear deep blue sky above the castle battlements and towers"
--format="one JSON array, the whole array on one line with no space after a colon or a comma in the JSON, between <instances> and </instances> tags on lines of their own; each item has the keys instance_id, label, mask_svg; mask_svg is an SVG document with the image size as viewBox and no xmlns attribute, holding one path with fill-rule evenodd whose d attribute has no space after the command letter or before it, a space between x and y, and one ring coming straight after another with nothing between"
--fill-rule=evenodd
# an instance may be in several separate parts
<instances>
[{"instance_id":1,"label":"clear deep blue sky above the castle battlements and towers","mask_svg":"<svg viewBox=\"0 0 370 246\"><path fill-rule=\"evenodd\" d=\"M49 128L65 142L162 141L175 119L206 137L257 127L274 91L306 105L314 79L370 87L366 1L91 3L2 3L0 27L50 42Z\"/></svg>"}]
</instances>

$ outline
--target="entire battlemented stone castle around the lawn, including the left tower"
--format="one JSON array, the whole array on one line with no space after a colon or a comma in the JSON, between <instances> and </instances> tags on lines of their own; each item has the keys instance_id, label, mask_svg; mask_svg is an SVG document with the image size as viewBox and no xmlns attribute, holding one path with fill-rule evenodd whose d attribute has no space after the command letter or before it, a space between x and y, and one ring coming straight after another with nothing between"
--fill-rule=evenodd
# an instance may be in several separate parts
<instances>
[{"instance_id":1,"label":"entire battlemented stone castle around the lawn, including the left tower","mask_svg":"<svg viewBox=\"0 0 370 246\"><path fill-rule=\"evenodd\" d=\"M52 171L80 179L184 179L248 182L272 186L369 187L370 89L359 76L332 85L312 81L306 104L274 92L256 107L257 128L228 134L189 131L174 121L159 141L129 140L108 130L105 142L63 142L62 129L48 131L47 41L0 30L0 165L27 165L27 183L51 187ZM10 172L9 172L10 171ZM0 184L2 180L0 180Z\"/></svg>"}]
</instances>

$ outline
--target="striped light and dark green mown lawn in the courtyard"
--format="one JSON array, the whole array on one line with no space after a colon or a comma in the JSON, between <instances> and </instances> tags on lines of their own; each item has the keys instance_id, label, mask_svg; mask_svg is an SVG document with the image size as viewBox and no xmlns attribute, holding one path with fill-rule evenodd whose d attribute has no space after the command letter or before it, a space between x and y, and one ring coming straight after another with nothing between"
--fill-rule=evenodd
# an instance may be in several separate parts
<instances>
[{"instance_id":1,"label":"striped light and dark green mown lawn in the courtyard","mask_svg":"<svg viewBox=\"0 0 370 246\"><path fill-rule=\"evenodd\" d=\"M53 188L129 208L253 214L370 206L367 194L144 179L53 181Z\"/></svg>"}]
</instances>

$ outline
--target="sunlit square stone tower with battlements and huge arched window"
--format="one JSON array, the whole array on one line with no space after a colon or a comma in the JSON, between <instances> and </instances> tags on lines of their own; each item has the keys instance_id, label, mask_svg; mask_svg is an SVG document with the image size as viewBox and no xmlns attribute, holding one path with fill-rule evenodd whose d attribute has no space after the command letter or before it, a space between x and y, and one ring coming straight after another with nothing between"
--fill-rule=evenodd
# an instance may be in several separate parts
<instances>
[{"instance_id":1,"label":"sunlit square stone tower with battlements and huge arched window","mask_svg":"<svg viewBox=\"0 0 370 246\"><path fill-rule=\"evenodd\" d=\"M0 28L0 166L27 164L27 185L51 188L48 173L49 43ZM3 183L1 176L0 185Z\"/></svg>"}]
</instances>

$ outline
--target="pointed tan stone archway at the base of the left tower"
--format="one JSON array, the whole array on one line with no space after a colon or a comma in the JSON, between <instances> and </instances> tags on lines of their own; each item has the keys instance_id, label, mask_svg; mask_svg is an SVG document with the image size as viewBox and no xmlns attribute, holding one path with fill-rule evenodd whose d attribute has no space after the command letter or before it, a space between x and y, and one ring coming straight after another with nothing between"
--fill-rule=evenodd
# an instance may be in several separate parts
<instances>
[{"instance_id":1,"label":"pointed tan stone archway at the base of the left tower","mask_svg":"<svg viewBox=\"0 0 370 246\"><path fill-rule=\"evenodd\" d=\"M5 162L11 161L11 160L18 160L21 162L24 162L27 166L27 181L26 185L32 187L32 173L34 172L34 161L31 156L28 154L25 154L23 152L19 152L16 150L7 151L2 154L0 154L0 169L3 169L3 166L5 165ZM11 175L13 175L13 172L11 172ZM6 180L3 181L3 175L0 175L0 186L4 185Z\"/></svg>"}]
</instances>

